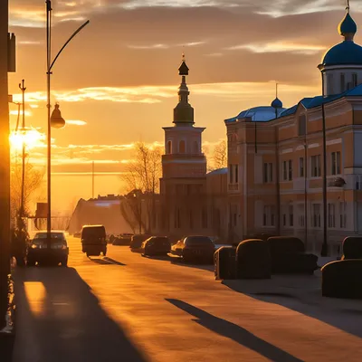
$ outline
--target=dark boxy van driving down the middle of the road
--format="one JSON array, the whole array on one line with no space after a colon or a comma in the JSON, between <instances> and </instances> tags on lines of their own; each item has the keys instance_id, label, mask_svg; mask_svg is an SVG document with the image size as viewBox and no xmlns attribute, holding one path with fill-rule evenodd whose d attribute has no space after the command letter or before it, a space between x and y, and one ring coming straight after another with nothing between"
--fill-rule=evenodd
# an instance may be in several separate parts
<instances>
[{"instance_id":1,"label":"dark boxy van driving down the middle of the road","mask_svg":"<svg viewBox=\"0 0 362 362\"><path fill-rule=\"evenodd\" d=\"M87 256L107 254L106 229L103 225L85 225L81 230L81 248Z\"/></svg>"}]
</instances>

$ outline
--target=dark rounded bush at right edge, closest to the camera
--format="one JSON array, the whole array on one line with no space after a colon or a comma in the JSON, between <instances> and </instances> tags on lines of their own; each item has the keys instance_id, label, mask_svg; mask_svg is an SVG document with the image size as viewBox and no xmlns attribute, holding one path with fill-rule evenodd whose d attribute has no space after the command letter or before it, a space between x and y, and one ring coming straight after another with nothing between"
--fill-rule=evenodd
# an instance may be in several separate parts
<instances>
[{"instance_id":1,"label":"dark rounded bush at right edge, closest to the camera","mask_svg":"<svg viewBox=\"0 0 362 362\"><path fill-rule=\"evenodd\" d=\"M362 259L329 262L322 271L322 295L362 299Z\"/></svg>"}]
</instances>

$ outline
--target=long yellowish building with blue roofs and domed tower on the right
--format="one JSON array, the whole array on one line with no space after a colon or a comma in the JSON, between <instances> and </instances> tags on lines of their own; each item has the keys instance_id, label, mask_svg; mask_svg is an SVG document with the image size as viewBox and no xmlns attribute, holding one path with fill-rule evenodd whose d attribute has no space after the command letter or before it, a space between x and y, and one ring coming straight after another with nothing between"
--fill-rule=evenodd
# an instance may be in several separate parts
<instances>
[{"instance_id":1,"label":"long yellowish building with blue roofs and domed tower on the right","mask_svg":"<svg viewBox=\"0 0 362 362\"><path fill-rule=\"evenodd\" d=\"M288 110L277 98L224 121L229 224L240 239L296 235L337 254L344 236L362 233L362 47L349 9L338 32L343 42L319 64L321 96Z\"/></svg>"}]
</instances>

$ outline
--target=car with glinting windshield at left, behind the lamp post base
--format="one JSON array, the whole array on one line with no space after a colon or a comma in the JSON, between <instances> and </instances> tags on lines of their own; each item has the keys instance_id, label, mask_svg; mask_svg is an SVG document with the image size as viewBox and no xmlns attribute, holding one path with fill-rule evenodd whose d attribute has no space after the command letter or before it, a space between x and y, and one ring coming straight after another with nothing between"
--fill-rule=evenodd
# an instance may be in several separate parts
<instances>
[{"instance_id":1,"label":"car with glinting windshield at left, behind the lamp post base","mask_svg":"<svg viewBox=\"0 0 362 362\"><path fill-rule=\"evenodd\" d=\"M27 253L27 266L34 266L36 262L53 262L62 266L68 265L69 247L65 234L62 232L51 232L48 240L47 232L35 233Z\"/></svg>"}]
</instances>

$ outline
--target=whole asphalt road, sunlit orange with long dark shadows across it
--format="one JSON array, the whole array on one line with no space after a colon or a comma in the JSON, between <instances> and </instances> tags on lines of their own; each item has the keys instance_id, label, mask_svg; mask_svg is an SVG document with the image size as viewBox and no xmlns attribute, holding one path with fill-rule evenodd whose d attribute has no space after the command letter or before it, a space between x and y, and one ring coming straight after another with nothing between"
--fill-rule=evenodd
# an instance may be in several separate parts
<instances>
[{"instance_id":1,"label":"whole asphalt road, sunlit orange with long dark shadows across it","mask_svg":"<svg viewBox=\"0 0 362 362\"><path fill-rule=\"evenodd\" d=\"M69 268L15 271L14 362L361 360L360 334L233 291L212 266L69 243Z\"/></svg>"}]
</instances>

